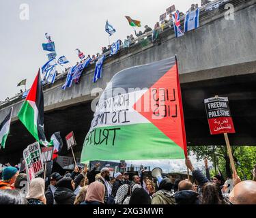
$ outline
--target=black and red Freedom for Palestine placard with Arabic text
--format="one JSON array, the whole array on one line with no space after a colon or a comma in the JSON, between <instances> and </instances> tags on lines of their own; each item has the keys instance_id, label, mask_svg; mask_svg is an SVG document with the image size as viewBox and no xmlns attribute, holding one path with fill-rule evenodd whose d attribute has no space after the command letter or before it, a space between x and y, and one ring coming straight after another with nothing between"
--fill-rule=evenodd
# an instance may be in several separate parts
<instances>
[{"instance_id":1,"label":"black and red Freedom for Palestine placard with Arabic text","mask_svg":"<svg viewBox=\"0 0 256 218\"><path fill-rule=\"evenodd\" d=\"M236 133L227 97L212 97L205 99L204 103L212 135Z\"/></svg>"}]
</instances>

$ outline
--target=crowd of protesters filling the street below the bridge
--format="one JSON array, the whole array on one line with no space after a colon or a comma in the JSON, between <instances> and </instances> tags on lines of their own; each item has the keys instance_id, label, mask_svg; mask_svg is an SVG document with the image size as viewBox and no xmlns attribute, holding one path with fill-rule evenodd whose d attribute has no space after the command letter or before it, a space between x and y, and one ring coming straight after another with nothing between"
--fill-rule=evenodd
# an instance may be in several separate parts
<instances>
[{"instance_id":1,"label":"crowd of protesters filling the street below the bridge","mask_svg":"<svg viewBox=\"0 0 256 218\"><path fill-rule=\"evenodd\" d=\"M206 175L185 161L193 174L193 181L140 175L130 178L128 172L116 172L111 178L109 168L96 171L100 163L88 171L87 166L75 167L72 173L61 176L51 174L46 187L43 178L33 178L27 189L27 174L16 167L3 168L0 182L0 204L256 204L256 166L252 170L253 181L241 181L237 174L233 179L222 176L210 179L208 163ZM130 180L131 179L131 180Z\"/></svg>"}]
</instances>

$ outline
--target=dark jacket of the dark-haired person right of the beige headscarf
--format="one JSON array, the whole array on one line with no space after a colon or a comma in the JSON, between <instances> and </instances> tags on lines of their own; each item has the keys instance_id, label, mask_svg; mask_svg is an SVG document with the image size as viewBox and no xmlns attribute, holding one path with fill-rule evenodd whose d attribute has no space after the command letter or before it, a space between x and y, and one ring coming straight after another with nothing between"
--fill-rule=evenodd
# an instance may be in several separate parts
<instances>
[{"instance_id":1,"label":"dark jacket of the dark-haired person right of the beige headscarf","mask_svg":"<svg viewBox=\"0 0 256 218\"><path fill-rule=\"evenodd\" d=\"M76 195L74 191L68 188L57 187L54 193L54 199L57 204L74 204Z\"/></svg>"}]
</instances>

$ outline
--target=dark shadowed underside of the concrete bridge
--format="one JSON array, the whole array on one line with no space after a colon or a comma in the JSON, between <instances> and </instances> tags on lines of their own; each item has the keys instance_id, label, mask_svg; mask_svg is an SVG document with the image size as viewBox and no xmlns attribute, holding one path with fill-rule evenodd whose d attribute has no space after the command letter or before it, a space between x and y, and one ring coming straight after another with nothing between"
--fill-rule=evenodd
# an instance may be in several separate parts
<instances>
[{"instance_id":1,"label":"dark shadowed underside of the concrete bridge","mask_svg":"<svg viewBox=\"0 0 256 218\"><path fill-rule=\"evenodd\" d=\"M231 76L214 80L190 82L182 84L182 99L186 125L188 146L223 145L224 136L210 136L208 120L203 100L219 95L229 97L229 105L233 116L236 134L230 134L232 145L256 145L256 74ZM80 156L83 140L89 130L93 112L90 102L55 109L44 114L46 138L55 131L60 131L63 138L61 155L70 155L66 149L64 136L74 131L77 146L74 147L76 157ZM11 125L10 135L5 149L0 151L0 163L18 163L23 149L34 142L27 129L15 121Z\"/></svg>"}]
</instances>

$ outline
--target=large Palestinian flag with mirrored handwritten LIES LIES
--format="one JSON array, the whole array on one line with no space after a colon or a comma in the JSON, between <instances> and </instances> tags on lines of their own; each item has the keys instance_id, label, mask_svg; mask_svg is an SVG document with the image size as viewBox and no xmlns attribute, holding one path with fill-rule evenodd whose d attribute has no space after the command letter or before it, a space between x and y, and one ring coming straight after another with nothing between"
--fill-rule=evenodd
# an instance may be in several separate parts
<instances>
[{"instance_id":1,"label":"large Palestinian flag with mirrored handwritten LIES LIES","mask_svg":"<svg viewBox=\"0 0 256 218\"><path fill-rule=\"evenodd\" d=\"M81 161L187 155L175 57L124 69L100 96Z\"/></svg>"}]
</instances>

